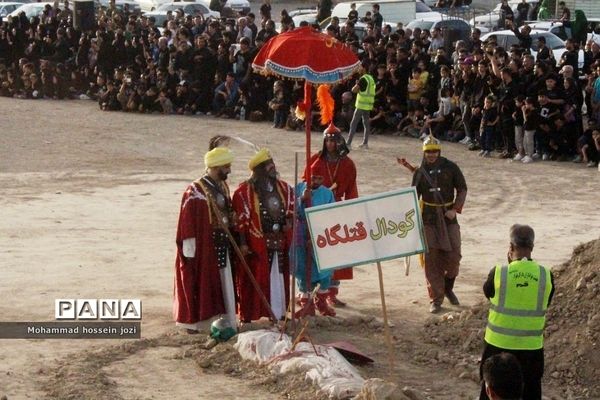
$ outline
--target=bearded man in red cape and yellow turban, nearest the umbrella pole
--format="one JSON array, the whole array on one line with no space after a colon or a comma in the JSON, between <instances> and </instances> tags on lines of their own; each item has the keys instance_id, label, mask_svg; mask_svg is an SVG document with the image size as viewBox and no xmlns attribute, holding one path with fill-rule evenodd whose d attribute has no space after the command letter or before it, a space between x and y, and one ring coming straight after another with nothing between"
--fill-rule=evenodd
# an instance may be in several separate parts
<instances>
[{"instance_id":1,"label":"bearded man in red cape and yellow turban, nearest the umbrella pole","mask_svg":"<svg viewBox=\"0 0 600 400\"><path fill-rule=\"evenodd\" d=\"M281 319L289 300L293 191L278 178L268 149L258 151L248 162L248 168L252 171L250 179L242 182L233 194L240 250L273 315ZM242 323L271 317L247 274L241 273L237 278Z\"/></svg>"}]
</instances>

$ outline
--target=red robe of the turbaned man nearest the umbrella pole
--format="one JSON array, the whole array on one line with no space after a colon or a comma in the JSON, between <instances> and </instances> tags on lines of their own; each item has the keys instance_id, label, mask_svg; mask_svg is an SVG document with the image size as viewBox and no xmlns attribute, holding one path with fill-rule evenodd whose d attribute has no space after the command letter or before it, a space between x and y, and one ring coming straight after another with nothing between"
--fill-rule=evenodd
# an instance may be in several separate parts
<instances>
[{"instance_id":1,"label":"red robe of the turbaned man nearest the umbrella pole","mask_svg":"<svg viewBox=\"0 0 600 400\"><path fill-rule=\"evenodd\" d=\"M283 201L283 208L286 210L286 216L291 217L294 210L294 192L290 185L284 181L277 180L276 186ZM271 303L271 265L269 264L269 254L262 234L258 194L248 182L242 182L233 193L233 209L235 211L236 228L238 232L246 237L247 245L252 252L252 254L245 257L246 262L248 263L254 278L256 278L263 294L267 298L267 301ZM288 253L292 242L292 229L287 230L285 236L285 249L282 251L285 261L283 262L283 265L280 265L280 268L283 271L285 304L288 304L290 297ZM260 300L259 294L254 289L246 272L239 267L236 270L239 271L236 273L236 278L240 320L255 321L261 317L270 317L271 313Z\"/></svg>"}]
</instances>

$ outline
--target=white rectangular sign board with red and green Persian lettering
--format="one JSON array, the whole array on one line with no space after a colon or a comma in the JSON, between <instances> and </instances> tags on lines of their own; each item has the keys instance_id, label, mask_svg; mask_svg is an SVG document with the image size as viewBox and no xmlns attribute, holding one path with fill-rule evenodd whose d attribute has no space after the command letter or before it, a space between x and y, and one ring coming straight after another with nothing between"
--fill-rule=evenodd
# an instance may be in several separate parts
<instances>
[{"instance_id":1,"label":"white rectangular sign board with red and green Persian lettering","mask_svg":"<svg viewBox=\"0 0 600 400\"><path fill-rule=\"evenodd\" d=\"M306 209L319 270L424 253L414 187Z\"/></svg>"}]
</instances>

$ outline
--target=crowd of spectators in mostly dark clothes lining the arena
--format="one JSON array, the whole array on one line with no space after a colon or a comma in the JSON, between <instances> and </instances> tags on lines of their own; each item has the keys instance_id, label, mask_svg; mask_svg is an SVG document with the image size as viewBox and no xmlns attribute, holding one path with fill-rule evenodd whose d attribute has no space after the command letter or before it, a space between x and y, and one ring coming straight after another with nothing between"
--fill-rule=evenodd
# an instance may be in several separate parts
<instances>
[{"instance_id":1,"label":"crowd of spectators in mostly dark clothes lining the arena","mask_svg":"<svg viewBox=\"0 0 600 400\"><path fill-rule=\"evenodd\" d=\"M68 1L39 17L0 25L0 95L27 99L91 98L102 110L213 115L271 120L296 129L300 83L252 71L258 49L294 29L284 11L205 19L175 11L164 26L153 17L117 9L97 12L96 27L73 27ZM538 43L530 54L529 27L507 21L520 44L504 49L478 29L451 46L444 33L367 24L359 41L353 23L337 19L325 32L345 42L376 82L372 133L434 136L460 142L482 157L597 164L600 149L600 47L567 40L560 60ZM318 26L314 27L318 29ZM578 63L583 46L583 66ZM335 123L347 130L355 79L332 88ZM584 107L587 117L584 118ZM584 124L585 119L585 124Z\"/></svg>"}]
</instances>

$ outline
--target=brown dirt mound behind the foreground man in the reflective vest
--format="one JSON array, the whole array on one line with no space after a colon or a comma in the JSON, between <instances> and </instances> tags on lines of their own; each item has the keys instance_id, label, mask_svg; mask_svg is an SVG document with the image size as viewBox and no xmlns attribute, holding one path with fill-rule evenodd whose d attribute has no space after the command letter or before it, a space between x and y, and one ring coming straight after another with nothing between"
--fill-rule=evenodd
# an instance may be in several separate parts
<instances>
[{"instance_id":1,"label":"brown dirt mound behind the foreground man in the reflective vest","mask_svg":"<svg viewBox=\"0 0 600 400\"><path fill-rule=\"evenodd\" d=\"M593 398L600 392L600 239L576 247L571 259L552 271L555 293L545 330L544 387L563 399ZM457 376L478 381L487 310L482 301L429 319L422 339L433 347L417 351L415 360L445 364Z\"/></svg>"}]
</instances>

